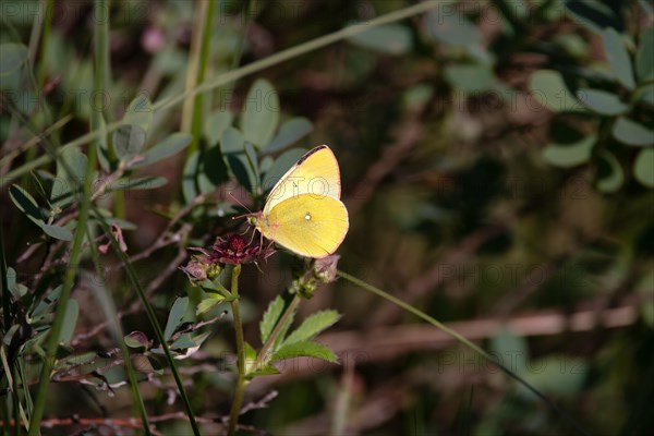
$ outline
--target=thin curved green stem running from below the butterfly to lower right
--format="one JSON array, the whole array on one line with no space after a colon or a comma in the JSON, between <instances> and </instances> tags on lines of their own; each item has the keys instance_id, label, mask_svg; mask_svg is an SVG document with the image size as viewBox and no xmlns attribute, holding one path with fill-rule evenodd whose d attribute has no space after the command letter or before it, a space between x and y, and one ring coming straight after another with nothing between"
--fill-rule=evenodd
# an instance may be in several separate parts
<instances>
[{"instance_id":1,"label":"thin curved green stem running from below the butterfly to lower right","mask_svg":"<svg viewBox=\"0 0 654 436\"><path fill-rule=\"evenodd\" d=\"M468 340L467 338L464 338L463 336L461 336L461 334L452 330L451 328L447 327L445 324L434 319L433 317L431 317L429 315L427 315L426 313L420 311L419 308L413 307L411 304L403 302L400 299L397 299L395 296L392 296L391 294L383 291L379 288L376 288L370 283L366 283L365 281L358 279L354 276L349 275L348 272L343 272L341 270L338 270L338 275L340 277L342 277L343 279L350 281L353 284L356 284L363 289L365 289L368 292L372 292L374 294L376 294L377 296L382 296L384 300L387 300L400 307L402 307L404 311L417 316L419 318L422 318L424 320L426 320L427 323L429 323L431 325L433 325L434 327L445 331L446 334L448 334L449 336L451 336L452 338L455 338L456 340L458 340L459 342L463 343L464 346L467 346L468 348L472 349L473 351L477 352L480 355L482 355L484 359L486 359L488 362L491 362L492 364L496 365L500 371L502 371L505 374L507 374L509 377L513 378L514 380L517 380L518 383L520 383L522 386L524 386L526 389L529 389L529 391L531 391L533 395L535 395L536 397L538 397L541 400L543 400L547 405L549 405L552 408L552 410L554 410L559 416L562 416L564 419L566 419L566 421L568 421L568 423L580 434L580 435L588 435L588 433L577 423L577 421L574 421L571 416L569 416L567 413L565 413L558 405L556 405L549 398L545 397L544 393L542 393L540 390L537 390L536 388L534 388L533 386L531 386L529 383L526 383L522 377L520 377L518 374L516 374L514 372L512 372L511 370L509 370L508 367L506 367L505 365L502 365L501 363L499 363L496 359L494 359L491 354L488 354L486 351L484 351L484 349L482 349L481 347L479 347L477 344L471 342L470 340Z\"/></svg>"}]
</instances>

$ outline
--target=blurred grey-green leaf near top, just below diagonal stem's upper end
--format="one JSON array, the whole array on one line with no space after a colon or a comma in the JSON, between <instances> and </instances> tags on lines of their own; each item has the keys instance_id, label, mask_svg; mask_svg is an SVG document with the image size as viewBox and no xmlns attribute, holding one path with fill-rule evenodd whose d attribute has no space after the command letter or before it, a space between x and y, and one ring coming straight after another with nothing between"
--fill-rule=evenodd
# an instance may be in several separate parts
<instances>
[{"instance_id":1,"label":"blurred grey-green leaf near top, just below diagonal stem's upper end","mask_svg":"<svg viewBox=\"0 0 654 436\"><path fill-rule=\"evenodd\" d=\"M460 13L451 13L447 8L437 8L427 15L427 26L432 36L445 44L458 47L477 46L482 36L474 24Z\"/></svg>"}]
</instances>

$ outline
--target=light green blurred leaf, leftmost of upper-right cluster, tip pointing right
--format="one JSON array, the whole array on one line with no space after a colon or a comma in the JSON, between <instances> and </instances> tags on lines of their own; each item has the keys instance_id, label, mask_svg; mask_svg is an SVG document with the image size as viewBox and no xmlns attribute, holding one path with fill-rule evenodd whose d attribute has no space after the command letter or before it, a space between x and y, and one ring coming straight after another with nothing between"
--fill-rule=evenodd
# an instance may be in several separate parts
<instances>
[{"instance_id":1,"label":"light green blurred leaf, leftmost of upper-right cluster, tip pointing right","mask_svg":"<svg viewBox=\"0 0 654 436\"><path fill-rule=\"evenodd\" d=\"M584 110L558 71L536 71L530 77L529 88L541 105L554 112Z\"/></svg>"}]
</instances>

